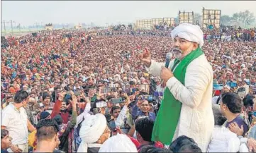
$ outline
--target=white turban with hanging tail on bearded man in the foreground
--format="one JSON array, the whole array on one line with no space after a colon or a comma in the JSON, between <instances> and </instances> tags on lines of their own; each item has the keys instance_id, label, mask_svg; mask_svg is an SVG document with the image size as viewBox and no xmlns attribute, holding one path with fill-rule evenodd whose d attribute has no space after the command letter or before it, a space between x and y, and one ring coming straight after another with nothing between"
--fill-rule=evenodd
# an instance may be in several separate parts
<instances>
[{"instance_id":1,"label":"white turban with hanging tail on bearded man in the foreground","mask_svg":"<svg viewBox=\"0 0 256 153\"><path fill-rule=\"evenodd\" d=\"M82 139L77 152L87 152L89 144L99 140L106 129L106 117L103 114L87 116L82 122L79 135Z\"/></svg>"}]
</instances>

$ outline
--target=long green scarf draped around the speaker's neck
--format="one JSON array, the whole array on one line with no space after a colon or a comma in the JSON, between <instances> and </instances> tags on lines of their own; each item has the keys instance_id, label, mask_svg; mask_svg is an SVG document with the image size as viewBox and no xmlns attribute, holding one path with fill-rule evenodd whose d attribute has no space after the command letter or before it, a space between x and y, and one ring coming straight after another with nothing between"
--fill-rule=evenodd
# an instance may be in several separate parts
<instances>
[{"instance_id":1,"label":"long green scarf draped around the speaker's neck","mask_svg":"<svg viewBox=\"0 0 256 153\"><path fill-rule=\"evenodd\" d=\"M179 60L175 59L172 71L174 67L177 66L177 63L179 63L173 74L177 80L182 82L182 85L184 85L185 82L187 66L201 54L204 54L203 51L200 48L197 48L195 51L191 51L190 54L185 56L180 63ZM157 114L152 132L153 142L160 141L165 145L169 145L172 142L181 109L182 103L174 98L168 87L165 87L162 104Z\"/></svg>"}]
</instances>

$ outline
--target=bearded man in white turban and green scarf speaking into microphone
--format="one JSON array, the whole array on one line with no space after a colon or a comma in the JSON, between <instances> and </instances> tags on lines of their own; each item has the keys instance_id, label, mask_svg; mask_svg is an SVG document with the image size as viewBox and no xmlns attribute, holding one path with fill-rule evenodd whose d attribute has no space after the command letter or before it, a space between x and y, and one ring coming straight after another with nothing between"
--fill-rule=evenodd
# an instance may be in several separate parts
<instances>
[{"instance_id":1,"label":"bearded man in white turban and green scarf speaking into microphone","mask_svg":"<svg viewBox=\"0 0 256 153\"><path fill-rule=\"evenodd\" d=\"M139 58L152 75L165 81L164 97L155 121L152 141L169 145L181 135L187 135L206 152L211 139L214 119L211 108L213 70L201 47L204 37L198 25L183 23L172 30L175 59L169 67L151 60L145 49Z\"/></svg>"}]
</instances>

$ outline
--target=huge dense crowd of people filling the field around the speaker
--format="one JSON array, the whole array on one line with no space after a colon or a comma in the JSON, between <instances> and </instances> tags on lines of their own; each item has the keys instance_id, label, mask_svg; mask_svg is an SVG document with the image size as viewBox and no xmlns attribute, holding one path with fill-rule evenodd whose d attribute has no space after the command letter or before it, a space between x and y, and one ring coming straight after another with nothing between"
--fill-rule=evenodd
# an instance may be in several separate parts
<instances>
[{"instance_id":1,"label":"huge dense crowd of people filling the field around the speaker","mask_svg":"<svg viewBox=\"0 0 256 153\"><path fill-rule=\"evenodd\" d=\"M1 44L1 152L201 152L152 142L169 30L52 30ZM256 29L204 29L215 126L208 152L256 152ZM174 57L173 57L174 58Z\"/></svg>"}]
</instances>

